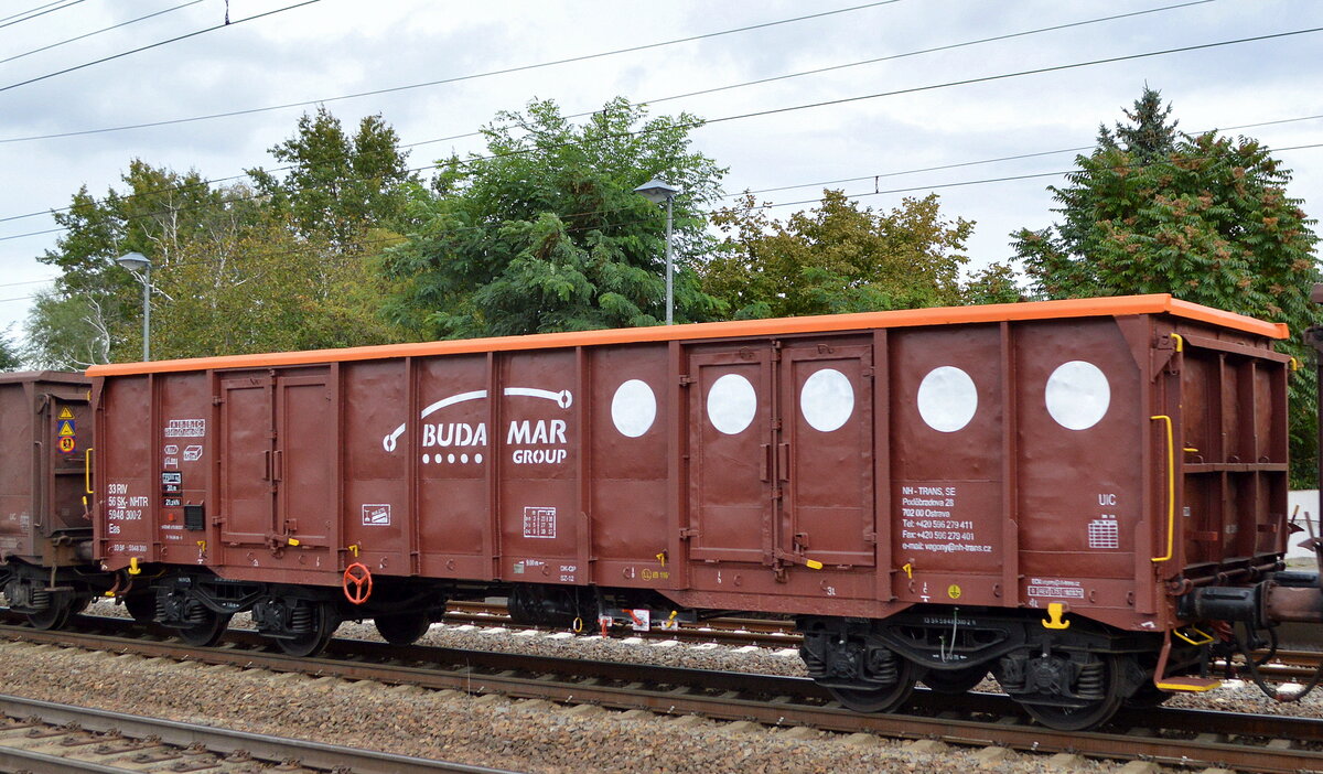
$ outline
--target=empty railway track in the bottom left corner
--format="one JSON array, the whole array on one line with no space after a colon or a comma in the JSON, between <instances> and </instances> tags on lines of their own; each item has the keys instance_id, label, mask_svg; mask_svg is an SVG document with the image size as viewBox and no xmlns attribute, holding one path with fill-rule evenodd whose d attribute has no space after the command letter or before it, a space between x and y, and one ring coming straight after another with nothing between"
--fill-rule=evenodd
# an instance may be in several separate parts
<instances>
[{"instance_id":1,"label":"empty railway track in the bottom left corner","mask_svg":"<svg viewBox=\"0 0 1323 774\"><path fill-rule=\"evenodd\" d=\"M0 695L0 770L40 774L508 774Z\"/></svg>"}]
</instances>

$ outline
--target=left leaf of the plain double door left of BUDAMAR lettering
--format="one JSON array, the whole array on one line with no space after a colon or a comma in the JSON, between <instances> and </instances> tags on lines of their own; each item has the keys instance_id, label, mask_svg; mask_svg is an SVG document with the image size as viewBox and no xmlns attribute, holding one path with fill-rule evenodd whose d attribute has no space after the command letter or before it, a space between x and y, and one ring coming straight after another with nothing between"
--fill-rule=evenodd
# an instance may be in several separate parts
<instances>
[{"instance_id":1,"label":"left leaf of the plain double door left of BUDAMAR lettering","mask_svg":"<svg viewBox=\"0 0 1323 774\"><path fill-rule=\"evenodd\" d=\"M275 528L274 381L221 381L221 538L265 544Z\"/></svg>"}]
</instances>

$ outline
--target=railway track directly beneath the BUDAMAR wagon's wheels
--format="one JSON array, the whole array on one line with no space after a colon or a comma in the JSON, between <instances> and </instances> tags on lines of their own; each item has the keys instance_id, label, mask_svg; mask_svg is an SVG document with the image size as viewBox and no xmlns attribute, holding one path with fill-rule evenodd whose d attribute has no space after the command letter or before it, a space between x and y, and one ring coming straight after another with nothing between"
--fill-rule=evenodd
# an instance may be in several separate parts
<instances>
[{"instance_id":1,"label":"railway track directly beneath the BUDAMAR wagon's wheels","mask_svg":"<svg viewBox=\"0 0 1323 774\"><path fill-rule=\"evenodd\" d=\"M255 632L232 631L224 647L192 650L157 635L127 636L132 627L124 619L93 618L81 626L86 628L60 632L4 626L0 636L245 669L697 714L766 726L803 725L1040 754L1073 753L1274 774L1323 770L1323 721L1311 718L1152 708L1123 712L1101 732L1056 732L1029 724L1015 703L994 693L943 696L919 691L905 714L861 716L840 708L802 677L360 640L333 640L323 658L295 659L267 651Z\"/></svg>"}]
</instances>

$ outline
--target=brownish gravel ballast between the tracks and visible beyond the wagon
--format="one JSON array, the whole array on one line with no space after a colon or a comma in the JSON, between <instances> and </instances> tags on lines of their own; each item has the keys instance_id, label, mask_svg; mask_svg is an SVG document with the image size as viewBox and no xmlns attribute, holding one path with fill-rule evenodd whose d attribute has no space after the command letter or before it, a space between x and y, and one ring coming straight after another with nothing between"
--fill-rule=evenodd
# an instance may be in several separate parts
<instances>
[{"instance_id":1,"label":"brownish gravel ballast between the tracks and visible beyond the wagon","mask_svg":"<svg viewBox=\"0 0 1323 774\"><path fill-rule=\"evenodd\" d=\"M114 614L107 602L89 613ZM237 618L235 624L242 624ZM378 639L370 622L339 636ZM791 648L560 636L540 631L434 624L423 644L578 656L710 669L803 675ZM204 667L50 646L0 644L4 691L17 696L204 722L516 771L1060 771L1046 755L897 742L867 734L470 697L265 669ZM995 683L984 681L995 689ZM1253 685L1176 705L1323 716L1320 700L1279 705ZM1121 763L1073 761L1069 770L1117 771Z\"/></svg>"}]
</instances>

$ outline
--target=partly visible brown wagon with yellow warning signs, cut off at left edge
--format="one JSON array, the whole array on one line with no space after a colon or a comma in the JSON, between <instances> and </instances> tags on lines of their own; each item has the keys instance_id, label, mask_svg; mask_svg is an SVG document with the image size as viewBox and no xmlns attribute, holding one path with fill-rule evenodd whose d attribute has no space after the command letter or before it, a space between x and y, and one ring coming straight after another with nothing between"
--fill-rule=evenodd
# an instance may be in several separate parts
<instances>
[{"instance_id":1,"label":"partly visible brown wagon with yellow warning signs, cut off at left edge","mask_svg":"<svg viewBox=\"0 0 1323 774\"><path fill-rule=\"evenodd\" d=\"M61 626L105 587L87 582L89 386L78 373L0 374L0 586L38 628Z\"/></svg>"}]
</instances>

